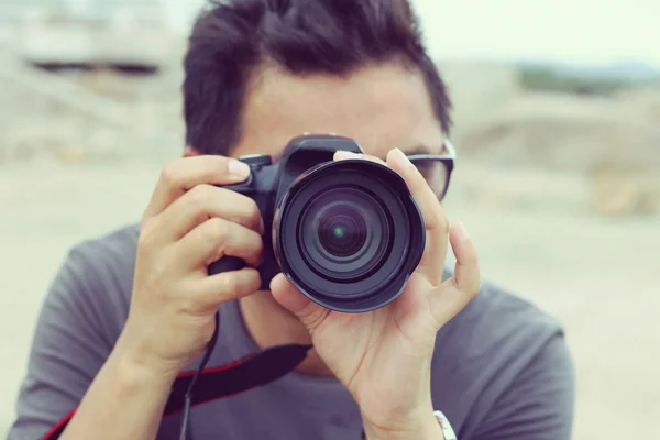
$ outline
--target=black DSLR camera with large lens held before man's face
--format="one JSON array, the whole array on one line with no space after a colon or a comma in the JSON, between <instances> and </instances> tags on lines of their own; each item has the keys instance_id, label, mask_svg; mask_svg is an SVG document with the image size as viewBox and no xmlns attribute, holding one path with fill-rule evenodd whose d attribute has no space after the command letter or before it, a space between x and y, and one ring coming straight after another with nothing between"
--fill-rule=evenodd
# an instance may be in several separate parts
<instances>
[{"instance_id":1,"label":"black DSLR camera with large lens held before man's face","mask_svg":"<svg viewBox=\"0 0 660 440\"><path fill-rule=\"evenodd\" d=\"M262 289L282 272L322 307L365 312L402 294L421 260L425 224L396 172L370 161L333 161L340 150L363 153L348 138L295 138L277 163L267 155L240 157L251 176L223 187L254 199L264 219ZM209 274L244 265L224 256Z\"/></svg>"}]
</instances>

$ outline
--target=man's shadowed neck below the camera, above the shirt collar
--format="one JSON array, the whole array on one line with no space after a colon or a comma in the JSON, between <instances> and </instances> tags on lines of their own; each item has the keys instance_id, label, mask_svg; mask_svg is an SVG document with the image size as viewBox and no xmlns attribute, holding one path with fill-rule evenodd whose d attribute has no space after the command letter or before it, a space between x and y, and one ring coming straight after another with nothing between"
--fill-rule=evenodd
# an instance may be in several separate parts
<instances>
[{"instance_id":1,"label":"man's shadowed neck below the camera, above the shirt collar","mask_svg":"<svg viewBox=\"0 0 660 440\"><path fill-rule=\"evenodd\" d=\"M311 345L311 337L305 326L279 306L270 292L260 290L242 298L240 308L248 332L260 349L289 343ZM311 376L332 375L316 350L309 351L296 372Z\"/></svg>"}]
</instances>

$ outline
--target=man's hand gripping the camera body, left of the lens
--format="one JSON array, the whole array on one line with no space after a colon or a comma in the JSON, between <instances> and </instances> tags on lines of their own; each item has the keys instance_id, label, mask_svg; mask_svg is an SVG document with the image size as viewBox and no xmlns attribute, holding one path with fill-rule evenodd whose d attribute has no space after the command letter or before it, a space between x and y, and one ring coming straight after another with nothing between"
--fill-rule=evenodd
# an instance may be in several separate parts
<instances>
[{"instance_id":1,"label":"man's hand gripping the camera body, left of the lens","mask_svg":"<svg viewBox=\"0 0 660 440\"><path fill-rule=\"evenodd\" d=\"M131 307L118 343L131 363L174 380L204 353L218 307L258 289L258 208L213 186L249 175L245 164L222 156L180 158L163 168L142 218ZM252 267L209 276L207 266L223 255Z\"/></svg>"}]
</instances>

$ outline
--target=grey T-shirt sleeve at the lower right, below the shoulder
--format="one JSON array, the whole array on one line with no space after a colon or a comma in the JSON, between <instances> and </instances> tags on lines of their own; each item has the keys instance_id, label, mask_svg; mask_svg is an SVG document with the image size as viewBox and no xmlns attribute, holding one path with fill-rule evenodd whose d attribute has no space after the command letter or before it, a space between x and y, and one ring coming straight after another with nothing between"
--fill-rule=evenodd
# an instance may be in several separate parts
<instances>
[{"instance_id":1,"label":"grey T-shirt sleeve at the lower right, below the shoulder","mask_svg":"<svg viewBox=\"0 0 660 440\"><path fill-rule=\"evenodd\" d=\"M570 440L574 399L573 361L559 333L495 403L474 440Z\"/></svg>"}]
</instances>

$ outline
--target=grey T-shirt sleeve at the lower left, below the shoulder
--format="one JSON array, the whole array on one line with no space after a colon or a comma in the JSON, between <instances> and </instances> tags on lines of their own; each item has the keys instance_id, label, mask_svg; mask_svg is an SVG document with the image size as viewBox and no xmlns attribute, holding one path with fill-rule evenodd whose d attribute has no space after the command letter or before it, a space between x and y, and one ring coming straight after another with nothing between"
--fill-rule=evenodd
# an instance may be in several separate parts
<instances>
[{"instance_id":1,"label":"grey T-shirt sleeve at the lower left, below the shoulder","mask_svg":"<svg viewBox=\"0 0 660 440\"><path fill-rule=\"evenodd\" d=\"M103 283L88 254L74 249L46 294L8 440L43 438L78 406L112 350Z\"/></svg>"}]
</instances>

